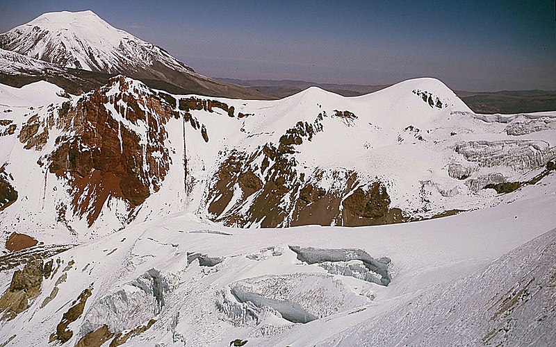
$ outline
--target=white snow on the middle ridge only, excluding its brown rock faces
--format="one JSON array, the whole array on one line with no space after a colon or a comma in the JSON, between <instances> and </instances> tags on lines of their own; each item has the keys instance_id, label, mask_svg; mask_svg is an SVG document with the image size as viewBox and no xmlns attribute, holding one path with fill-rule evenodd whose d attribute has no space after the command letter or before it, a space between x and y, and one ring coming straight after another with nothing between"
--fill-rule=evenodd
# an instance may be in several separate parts
<instances>
[{"instance_id":1,"label":"white snow on the middle ridge only, excluding its brown rock faces","mask_svg":"<svg viewBox=\"0 0 556 347\"><path fill-rule=\"evenodd\" d=\"M126 81L131 83L130 92L152 93L139 81L129 78ZM445 106L432 108L414 94L415 90L427 90ZM107 96L111 97L114 92L117 92L117 86L108 91ZM49 242L83 242L125 226L122 221L129 211L123 201L111 198L112 202L105 206L92 228L87 228L83 219L73 216L71 209L67 209L65 218L76 232L45 230L58 225L56 206L70 206L71 196L67 195L63 178L47 174L48 170L36 163L56 148L55 139L65 130L51 129L48 142L41 151L23 149L17 134L34 115L38 116L42 127L47 124L47 119L57 117L56 109L67 101L58 94L60 88L46 82L20 89L0 86L0 115L17 124L14 135L0 137L0 164L7 163L6 170L13 175L13 185L20 196L10 206L10 213L0 214L0 222L8 226L17 221L21 232L49 239ZM75 104L80 97L72 96L71 103ZM301 145L295 146L296 153L291 155L297 162L295 169L305 175L305 181L327 192L342 191L350 172L357 172L360 180L357 187L381 181L391 198L391 208L400 208L416 219L447 210L476 210L527 198L537 185L543 184L543 180L505 195L482 187L488 183L529 180L543 171L546 161L556 157L555 128L542 127L523 135L508 135L505 128L518 124L518 119L516 123L477 119L448 87L434 78L409 80L352 98L311 87L278 101L209 99L233 105L236 115L238 112L250 115L238 119L228 117L219 108L213 108L214 112L192 110L191 115L206 127L208 143L198 129L183 119L172 117L165 126L170 171L163 178L161 189L133 212L136 218L131 221L132 225L174 213L209 220L211 214L206 208L206 193L227 153L240 151L250 156L260 151L264 144L277 146L286 130L295 127L299 121L314 124L319 114L326 114L320 121L322 131L315 133L311 141L304 139ZM131 124L110 104L106 105L111 110L111 117L120 124L116 132L126 127L138 135L141 143L147 141L146 124L142 121ZM126 109L124 103L121 106ZM349 110L357 119L346 123L345 119L334 117L335 110ZM543 119L548 118L537 120ZM184 153L187 176L183 171ZM256 158L252 165L260 167L260 161L261 158ZM263 179L261 171L254 169L254 172ZM468 177L459 179L462 175ZM245 199L241 198L241 189L237 185L233 189L234 198L224 214L240 211L247 215L250 203L261 193ZM42 193L37 196L36 192ZM298 198L294 194L287 195L281 204L287 209L288 204ZM26 216L24 220L23 216ZM259 223L254 221L250 226L256 227Z\"/></svg>"}]
</instances>

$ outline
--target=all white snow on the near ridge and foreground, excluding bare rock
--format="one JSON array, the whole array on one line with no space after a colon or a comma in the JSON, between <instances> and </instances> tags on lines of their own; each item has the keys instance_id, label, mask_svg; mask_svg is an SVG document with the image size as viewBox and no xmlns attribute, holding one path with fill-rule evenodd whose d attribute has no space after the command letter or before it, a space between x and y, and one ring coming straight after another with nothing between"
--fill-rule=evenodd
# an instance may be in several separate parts
<instances>
[{"instance_id":1,"label":"all white snow on the near ridge and foreground, excluding bare rock","mask_svg":"<svg viewBox=\"0 0 556 347\"><path fill-rule=\"evenodd\" d=\"M90 286L92 296L83 314L69 327L74 334L68 346L101 325L125 333L149 319L156 320L154 325L124 346L229 346L234 339L248 340L246 346L475 346L500 341L549 345L555 341L556 312L549 310L555 306L555 232L550 231L556 227L555 174L499 196L493 189L473 191L465 180L450 177L448 170L450 164L459 164L452 173L468 169L470 178L477 180L493 174L507 180L532 178L543 167L531 167L531 159L550 158L555 129L508 135L507 123L478 119L448 87L432 78L354 98L315 87L279 101L211 98L253 115L237 119L219 109L191 112L206 126L208 143L183 119L170 119L166 126L170 171L161 189L133 211L136 218L122 223L118 218L126 206L113 198L91 228L68 209L65 218L72 232L56 221L56 205L71 201L65 181L37 164L41 155L54 149L54 139L62 130L51 130L41 151L23 149L17 139L30 117L47 119L51 111L55 116L56 108L67 101L57 96L57 88L45 83L0 88L1 119L17 124L14 135L0 137L0 166L6 163L19 193L18 200L0 212L0 228L4 239L17 226L18 232L45 244L79 246L52 257L55 264L60 260L60 269L44 280L40 296L28 310L13 321L0 322L0 344L9 340L6 346L46 345L64 312ZM133 88L148 92L137 81ZM431 107L414 90L432 93L445 107ZM35 105L33 95L40 95L42 105ZM70 102L77 98L72 96ZM349 110L357 119L346 122L332 117L334 110ZM219 152L253 151L267 142L277 143L297 121L312 123L324 111L328 117L322 119L322 132L296 148L298 168L307 176L316 170L355 170L370 180L382 178L395 207L422 216L462 206L469 211L363 228L258 230L224 228L208 221L202 201L222 158ZM133 124L122 121L122 126ZM408 126L413 130L405 130ZM142 127L136 131L141 133ZM527 146L517 146L516 151L509 145L516 141ZM473 152L474 156L466 158L455 151L479 142L487 150ZM189 187L184 186L184 153L188 179L195 183ZM496 158L509 158L513 164ZM332 174L323 177L322 187L341 185ZM425 205L418 200L420 194L427 198ZM318 264L297 260L289 246L358 248L375 259L389 257L392 281L386 287L357 276L332 275ZM199 259L190 259L195 253L222 262L203 266ZM63 271L71 261L74 265ZM527 286L534 290L521 296L530 282L530 271L524 269L534 269L537 282ZM6 280L1 290L8 288L11 273L2 274ZM281 283L290 287L281 288ZM315 283L324 288L314 290ZM54 287L56 297L40 307ZM250 294L235 296L234 287ZM501 304L514 301L517 304ZM502 313L491 319L498 311ZM300 320L300 312L309 314L308 323L292 321L292 316Z\"/></svg>"}]
</instances>

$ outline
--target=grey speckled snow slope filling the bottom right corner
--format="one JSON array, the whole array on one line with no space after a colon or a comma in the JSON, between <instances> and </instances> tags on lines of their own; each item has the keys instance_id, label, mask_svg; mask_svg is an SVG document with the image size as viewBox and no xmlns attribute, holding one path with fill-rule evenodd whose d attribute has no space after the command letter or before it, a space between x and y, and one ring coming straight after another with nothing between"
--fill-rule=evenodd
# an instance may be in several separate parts
<instances>
[{"instance_id":1,"label":"grey speckled snow slope filling the bottom right corner","mask_svg":"<svg viewBox=\"0 0 556 347\"><path fill-rule=\"evenodd\" d=\"M389 346L548 346L556 337L555 260L553 229L320 345L373 346L388 336Z\"/></svg>"}]
</instances>

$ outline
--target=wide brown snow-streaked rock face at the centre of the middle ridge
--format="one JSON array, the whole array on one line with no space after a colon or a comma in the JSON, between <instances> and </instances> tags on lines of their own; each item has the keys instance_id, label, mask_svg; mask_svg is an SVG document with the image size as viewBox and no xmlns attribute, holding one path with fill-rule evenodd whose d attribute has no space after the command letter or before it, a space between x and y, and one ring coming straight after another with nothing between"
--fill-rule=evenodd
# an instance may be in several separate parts
<instances>
[{"instance_id":1,"label":"wide brown snow-streaked rock face at the centre of the middle ridge","mask_svg":"<svg viewBox=\"0 0 556 347\"><path fill-rule=\"evenodd\" d=\"M252 153L225 153L207 195L207 210L213 220L227 226L263 228L407 221L401 210L391 209L386 188L379 182L366 187L357 173L345 169L315 168L311 177L297 171L296 147L323 131L325 117L326 112L321 112L312 123L298 121L277 144L269 142ZM347 110L336 110L333 117L341 117L347 126L357 119ZM322 189L322 180L336 184Z\"/></svg>"}]
</instances>

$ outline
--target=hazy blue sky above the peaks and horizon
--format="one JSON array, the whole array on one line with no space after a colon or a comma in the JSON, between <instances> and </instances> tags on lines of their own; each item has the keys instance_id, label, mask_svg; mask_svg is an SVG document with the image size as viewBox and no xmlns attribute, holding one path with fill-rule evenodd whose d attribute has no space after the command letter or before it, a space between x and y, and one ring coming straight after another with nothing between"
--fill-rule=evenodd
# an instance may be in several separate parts
<instances>
[{"instance_id":1,"label":"hazy blue sky above the peaks and horizon","mask_svg":"<svg viewBox=\"0 0 556 347\"><path fill-rule=\"evenodd\" d=\"M556 90L554 0L0 0L0 32L42 12L93 10L199 73L457 90Z\"/></svg>"}]
</instances>

